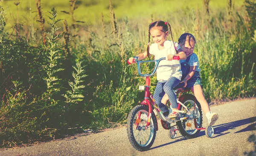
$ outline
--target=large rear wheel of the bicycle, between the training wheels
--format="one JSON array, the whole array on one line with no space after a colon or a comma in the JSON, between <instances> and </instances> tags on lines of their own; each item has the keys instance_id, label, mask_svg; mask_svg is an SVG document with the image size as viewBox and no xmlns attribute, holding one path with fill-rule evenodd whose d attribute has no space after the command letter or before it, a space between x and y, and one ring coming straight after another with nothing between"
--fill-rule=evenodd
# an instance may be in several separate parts
<instances>
[{"instance_id":1,"label":"large rear wheel of the bicycle, between the training wheels","mask_svg":"<svg viewBox=\"0 0 256 156\"><path fill-rule=\"evenodd\" d=\"M180 134L184 138L186 139L195 138L198 136L198 133L200 132L200 130L197 130L196 128L200 128L203 121L201 105L195 99L195 96L192 94L183 95L183 97L180 99L180 102L183 103L186 107L188 107L190 111L193 112L193 116L195 120L194 118L192 118L192 119L177 121L177 127L180 131ZM180 105L180 110L185 111L185 113L181 114L181 118L190 115L189 112L182 105ZM196 121L197 124L195 124L194 121Z\"/></svg>"}]
</instances>

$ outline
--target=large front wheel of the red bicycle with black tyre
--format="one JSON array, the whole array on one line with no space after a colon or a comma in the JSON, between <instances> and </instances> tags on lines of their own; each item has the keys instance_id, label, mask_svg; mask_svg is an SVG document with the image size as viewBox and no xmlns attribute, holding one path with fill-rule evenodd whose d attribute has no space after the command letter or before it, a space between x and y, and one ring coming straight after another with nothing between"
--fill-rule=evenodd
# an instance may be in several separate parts
<instances>
[{"instance_id":1,"label":"large front wheel of the red bicycle with black tyre","mask_svg":"<svg viewBox=\"0 0 256 156\"><path fill-rule=\"evenodd\" d=\"M134 107L127 120L127 134L131 145L139 151L148 150L156 138L157 119L152 113L150 125L146 128L148 120L148 106ZM137 125L136 125L137 123Z\"/></svg>"}]
</instances>

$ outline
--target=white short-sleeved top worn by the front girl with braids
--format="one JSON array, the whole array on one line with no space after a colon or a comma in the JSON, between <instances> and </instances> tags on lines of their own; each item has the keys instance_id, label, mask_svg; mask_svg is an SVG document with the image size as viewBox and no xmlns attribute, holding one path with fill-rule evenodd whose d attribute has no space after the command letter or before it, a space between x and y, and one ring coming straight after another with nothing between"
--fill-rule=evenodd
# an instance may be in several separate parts
<instances>
[{"instance_id":1,"label":"white short-sleeved top worn by the front girl with braids","mask_svg":"<svg viewBox=\"0 0 256 156\"><path fill-rule=\"evenodd\" d=\"M175 44L177 47L178 44ZM162 50L158 49L157 43L153 43L150 46L149 53L151 55L155 55L155 60L158 60L163 57L167 57L167 54L176 54L176 50L174 46L170 49L164 48ZM180 61L178 60L162 60L159 62L157 67L157 80L160 83L166 82L169 78L175 77L179 80L181 80L182 72L180 67Z\"/></svg>"}]
</instances>

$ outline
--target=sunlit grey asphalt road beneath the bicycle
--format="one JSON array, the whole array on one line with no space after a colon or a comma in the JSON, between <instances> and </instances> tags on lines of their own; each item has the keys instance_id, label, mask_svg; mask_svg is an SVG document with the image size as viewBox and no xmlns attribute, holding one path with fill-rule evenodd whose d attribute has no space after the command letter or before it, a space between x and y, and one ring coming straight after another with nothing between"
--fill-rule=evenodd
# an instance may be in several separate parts
<instances>
[{"instance_id":1,"label":"sunlit grey asphalt road beneath the bicycle","mask_svg":"<svg viewBox=\"0 0 256 156\"><path fill-rule=\"evenodd\" d=\"M194 139L186 140L180 133L177 133L175 139L169 139L168 130L164 130L158 122L159 130L154 144L145 152L131 146L126 127L122 127L30 147L0 150L0 156L244 156L256 150L256 138L249 139L252 135L256 136L256 99L234 101L210 108L219 114L213 126L215 134L212 138L207 138L205 132L201 131ZM203 115L204 127L207 125L205 118Z\"/></svg>"}]
</instances>

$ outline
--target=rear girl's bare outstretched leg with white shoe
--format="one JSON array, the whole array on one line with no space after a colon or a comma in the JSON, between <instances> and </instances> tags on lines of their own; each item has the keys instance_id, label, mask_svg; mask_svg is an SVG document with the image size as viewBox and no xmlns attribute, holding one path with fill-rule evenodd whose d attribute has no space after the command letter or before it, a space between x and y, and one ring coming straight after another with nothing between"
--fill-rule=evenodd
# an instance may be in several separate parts
<instances>
[{"instance_id":1,"label":"rear girl's bare outstretched leg with white shoe","mask_svg":"<svg viewBox=\"0 0 256 156\"><path fill-rule=\"evenodd\" d=\"M194 93L195 98L200 103L201 108L204 111L204 113L208 119L208 124L212 126L213 124L215 124L215 121L218 120L218 114L212 113L210 111L209 105L204 98L204 93L203 93L201 85L195 85L195 86L191 87L191 90Z\"/></svg>"}]
</instances>

